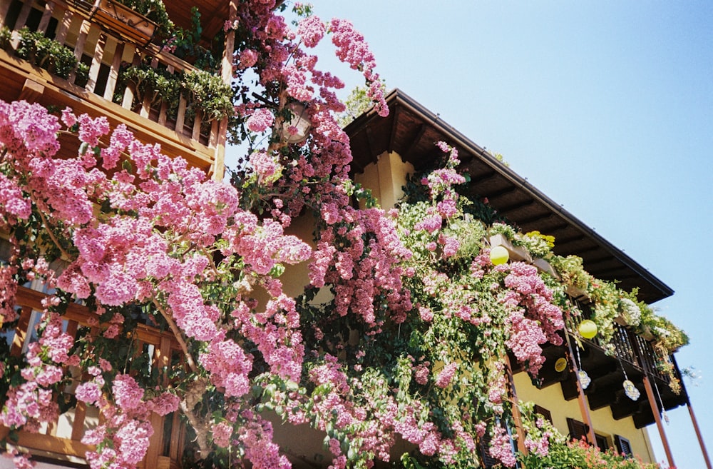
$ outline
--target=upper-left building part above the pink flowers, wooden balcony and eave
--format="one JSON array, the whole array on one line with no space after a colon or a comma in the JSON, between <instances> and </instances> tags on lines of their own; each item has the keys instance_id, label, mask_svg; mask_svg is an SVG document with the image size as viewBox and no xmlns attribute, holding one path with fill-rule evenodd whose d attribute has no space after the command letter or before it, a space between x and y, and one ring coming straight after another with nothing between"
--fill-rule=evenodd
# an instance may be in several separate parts
<instances>
[{"instance_id":1,"label":"upper-left building part above the pink flowers, wooden balcony and eave","mask_svg":"<svg viewBox=\"0 0 713 469\"><path fill-rule=\"evenodd\" d=\"M168 16L176 26L190 30L190 5L184 2L167 4ZM212 38L222 38L223 24L230 14L228 10L227 1L200 1L202 45L210 47ZM77 114L86 112L92 116L106 116L111 126L125 123L141 141L160 143L169 156L180 154L191 165L221 179L225 119L211 120L200 111L194 112L190 99L184 94L176 96L177 109L168 109L165 104L154 104L148 94L138 96L140 92L135 86L121 84L121 71L130 65L143 64L176 76L196 69L190 63L195 58L185 56L184 60L168 52L163 48L165 38L160 38L158 26L143 17L132 19L128 16L130 11L121 9L118 2L108 0L95 4L73 0L3 0L0 27L14 35L10 44L0 50L0 72L4 83L0 98L4 101L25 99L57 109L71 106ZM64 65L61 75L66 78L60 78L56 73L30 63L41 61L39 52L30 51L32 57L20 59L14 49L21 44L23 29L39 31L56 41L56 45L73 51L78 65ZM226 37L232 35L229 33ZM222 54L225 48L220 46ZM222 57L216 59L221 76L230 83L230 57L225 57L227 65ZM50 64L51 61L43 62L45 68L61 68L59 64ZM139 101L140 98L143 99Z\"/></svg>"}]
</instances>

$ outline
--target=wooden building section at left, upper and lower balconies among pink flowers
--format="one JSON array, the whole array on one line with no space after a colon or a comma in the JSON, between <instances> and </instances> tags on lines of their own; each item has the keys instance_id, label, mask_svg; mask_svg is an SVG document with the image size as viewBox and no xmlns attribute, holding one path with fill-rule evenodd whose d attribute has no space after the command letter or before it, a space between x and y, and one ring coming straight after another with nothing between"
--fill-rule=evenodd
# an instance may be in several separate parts
<instances>
[{"instance_id":1,"label":"wooden building section at left, upper and lower balconies among pink flowers","mask_svg":"<svg viewBox=\"0 0 713 469\"><path fill-rule=\"evenodd\" d=\"M230 18L231 2L196 3L202 14L200 46L214 49L215 78L230 90L232 56L224 51L232 49L235 33L223 34L223 26ZM166 4L175 26L190 30L191 4L183 1ZM235 15L235 9L232 14ZM195 56L187 54L181 59L163 48L166 38L160 36L160 25L134 16L130 9L113 0L1 0L0 28L4 33L4 39L0 40L0 99L37 102L58 110L69 106L76 114L106 116L112 128L123 123L143 143L160 143L168 156L183 156L190 166L222 180L227 118L204 115L193 106L195 103L187 93L175 94L173 109L165 100L155 104L148 93L142 95L136 82L128 85L121 80L122 72L130 66L163 76L178 77L198 71L193 64ZM32 36L34 32L39 36ZM51 41L40 44L38 37ZM17 51L22 47L24 54ZM48 54L41 52L42 47L64 62L48 59ZM76 155L76 146L66 147L65 151ZM1 236L0 243L6 243ZM0 259L4 253L0 249ZM36 311L43 308L40 303L43 296L39 291L19 288L16 303L21 307L20 323L14 336L3 338L11 341L12 355L20 355L26 347L39 314ZM76 332L78 326L87 326L87 318L85 307L71 306L65 318L67 331ZM139 341L143 348L155 351L155 357L160 357L163 363L178 353L178 345L170 334L152 328L144 328ZM97 419L96 413L87 412L79 403L39 434L20 431L17 443L29 448L39 462L62 460L63 465L76 465L83 462L87 450L79 441L81 435L85 428L96 425ZM155 433L143 467L175 467L183 453L178 415L153 423L166 431ZM9 429L0 427L0 440L8 434ZM8 462L12 464L3 458L0 465L5 467Z\"/></svg>"}]
</instances>

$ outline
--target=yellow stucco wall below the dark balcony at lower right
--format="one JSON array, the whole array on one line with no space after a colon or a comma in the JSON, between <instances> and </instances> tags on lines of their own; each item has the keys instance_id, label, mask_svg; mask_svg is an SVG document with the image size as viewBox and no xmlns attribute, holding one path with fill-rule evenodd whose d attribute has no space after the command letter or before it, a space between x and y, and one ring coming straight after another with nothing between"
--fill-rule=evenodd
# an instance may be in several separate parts
<instances>
[{"instance_id":1,"label":"yellow stucco wall below the dark balcony at lower right","mask_svg":"<svg viewBox=\"0 0 713 469\"><path fill-rule=\"evenodd\" d=\"M555 428L560 430L560 433L563 435L569 433L567 418L573 418L580 422L584 420L580 412L578 400L565 400L560 385L553 384L547 388L538 389L532 384L527 373L518 373L514 378L518 399L525 402L531 401L549 410L550 413L552 413L553 425L555 425ZM646 429L637 429L634 426L632 418L614 420L609 407L590 410L590 416L595 433L605 436L610 448L615 448L614 435L621 435L629 440L632 451L638 455L642 461L645 463L655 461L654 452L651 448Z\"/></svg>"}]
</instances>

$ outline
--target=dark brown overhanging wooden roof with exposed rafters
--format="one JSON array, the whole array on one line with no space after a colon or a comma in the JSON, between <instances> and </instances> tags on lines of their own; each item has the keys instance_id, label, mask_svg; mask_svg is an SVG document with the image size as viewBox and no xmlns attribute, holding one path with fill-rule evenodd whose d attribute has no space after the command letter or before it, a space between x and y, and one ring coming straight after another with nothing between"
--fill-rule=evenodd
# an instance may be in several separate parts
<instances>
[{"instance_id":1,"label":"dark brown overhanging wooden roof with exposed rafters","mask_svg":"<svg viewBox=\"0 0 713 469\"><path fill-rule=\"evenodd\" d=\"M639 298L646 303L673 294L639 263L403 91L391 91L386 101L388 117L371 109L345 128L352 142L352 171L359 173L379 155L392 151L419 170L442 155L434 143L446 141L458 148L461 171L471 176L464 195L488 198L498 213L525 232L555 236L556 254L580 256L586 271L617 281L623 290L639 288Z\"/></svg>"}]
</instances>

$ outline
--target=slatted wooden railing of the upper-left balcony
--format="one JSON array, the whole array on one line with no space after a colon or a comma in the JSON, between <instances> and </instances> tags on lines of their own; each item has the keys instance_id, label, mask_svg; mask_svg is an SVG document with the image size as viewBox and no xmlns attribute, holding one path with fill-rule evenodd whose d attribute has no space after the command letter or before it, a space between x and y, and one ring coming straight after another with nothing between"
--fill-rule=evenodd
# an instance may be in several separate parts
<instances>
[{"instance_id":1,"label":"slatted wooden railing of the upper-left balcony","mask_svg":"<svg viewBox=\"0 0 713 469\"><path fill-rule=\"evenodd\" d=\"M168 109L165 102L151 102L146 96L138 100L133 85L120 83L120 71L130 64L148 64L153 69L161 69L168 74L178 74L194 70L186 61L179 59L158 44L140 44L122 36L120 31L112 31L96 22L96 16L77 5L86 4L80 0L0 0L0 26L7 26L13 32L12 49L19 42L19 31L41 31L46 37L73 51L78 61L88 65L86 84L77 81L75 72L68 76L69 85L77 86L106 100L102 106L120 106L124 111L153 121L159 126L177 134L174 141L184 139L200 143L203 153L210 153L211 160L224 156L225 118L222 121L207 122L200 109L191 109L188 100L181 94L178 106ZM12 53L12 51L10 51ZM225 68L225 57L222 67ZM225 81L230 74L222 73ZM70 86L71 88L71 86ZM80 96L83 98L83 96ZM116 111L118 116L123 112ZM130 125L131 127L131 125ZM218 149L215 154L213 150ZM210 149L211 151L207 151ZM192 150L195 150L193 148ZM214 168L222 176L222 168Z\"/></svg>"}]
</instances>

